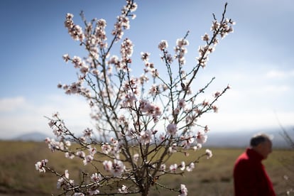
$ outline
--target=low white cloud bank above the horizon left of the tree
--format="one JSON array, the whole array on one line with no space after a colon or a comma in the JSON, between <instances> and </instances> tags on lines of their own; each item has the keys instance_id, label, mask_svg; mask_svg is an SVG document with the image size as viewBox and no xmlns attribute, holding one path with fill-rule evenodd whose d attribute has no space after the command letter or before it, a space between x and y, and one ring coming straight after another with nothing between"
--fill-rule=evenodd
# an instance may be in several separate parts
<instances>
[{"instance_id":1,"label":"low white cloud bank above the horizon left of the tree","mask_svg":"<svg viewBox=\"0 0 294 196\"><path fill-rule=\"evenodd\" d=\"M0 99L0 108L0 138L13 138L31 131L50 134L44 116L51 117L57 111L75 133L91 126L87 102L75 96L45 97L41 103L29 102L25 97L11 97Z\"/></svg>"}]
</instances>

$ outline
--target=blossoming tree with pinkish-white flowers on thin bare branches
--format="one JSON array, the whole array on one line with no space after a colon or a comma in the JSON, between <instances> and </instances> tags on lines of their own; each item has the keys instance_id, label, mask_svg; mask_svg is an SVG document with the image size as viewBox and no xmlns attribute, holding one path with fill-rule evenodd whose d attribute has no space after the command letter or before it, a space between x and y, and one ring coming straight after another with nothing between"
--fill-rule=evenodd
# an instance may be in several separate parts
<instances>
[{"instance_id":1,"label":"blossoming tree with pinkish-white flowers on thin bare branches","mask_svg":"<svg viewBox=\"0 0 294 196\"><path fill-rule=\"evenodd\" d=\"M160 41L158 49L167 78L160 76L148 52L141 53L143 74L136 77L131 72L133 43L129 38L123 40L123 35L130 28L130 18L135 18L134 0L126 1L109 36L104 19L88 22L81 13L85 22L82 28L67 13L65 27L88 55L85 58L63 55L65 62L71 62L79 74L77 82L58 87L66 94L79 94L87 99L99 137L94 138L89 128L83 131L83 136L76 136L56 113L48 118L56 138L46 138L45 142L53 152L62 151L66 158L80 158L82 164L92 165L94 172L82 175L77 182L70 178L68 170L58 173L50 168L48 160L38 161L36 170L44 173L49 170L58 176L57 187L64 195L148 195L152 186L187 195L185 185L169 187L160 178L191 172L200 158L212 156L207 149L189 162L168 161L175 153L189 156L190 149L202 147L209 129L197 124L197 119L208 111L217 111L214 103L229 89L227 86L216 92L212 101L199 101L197 96L205 92L212 78L205 87L192 92L196 75L207 65L219 38L233 32L234 22L225 18L226 7L227 4L220 21L213 16L211 35L205 33L202 37L204 45L198 49L195 66L185 67L189 32L176 41L173 53L168 51L166 40ZM111 54L118 44L120 54Z\"/></svg>"}]
</instances>

